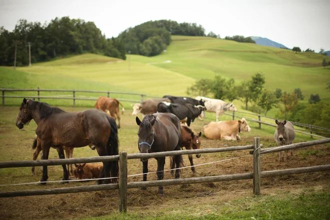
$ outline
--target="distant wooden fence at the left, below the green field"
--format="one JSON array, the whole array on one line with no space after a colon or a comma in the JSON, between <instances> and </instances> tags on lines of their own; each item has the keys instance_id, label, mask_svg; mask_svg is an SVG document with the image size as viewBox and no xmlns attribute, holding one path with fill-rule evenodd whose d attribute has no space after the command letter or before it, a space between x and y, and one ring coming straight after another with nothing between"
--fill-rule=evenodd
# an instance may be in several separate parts
<instances>
[{"instance_id":1,"label":"distant wooden fence at the left, below the green field","mask_svg":"<svg viewBox=\"0 0 330 220\"><path fill-rule=\"evenodd\" d=\"M30 89L30 88L1 88L2 90L2 106L4 106L4 98L37 98L38 101L40 101L40 98L46 98L46 99L71 99L73 100L73 107L75 107L75 100L97 100L97 98L86 98L86 97L76 97L76 92L89 92L89 93L103 93L106 94L107 97L109 97L110 93L113 94L128 94L128 95L138 95L140 96L140 99L125 99L125 98L117 98L119 101L129 101L129 102L142 102L143 97L154 97L158 98L156 96L149 96L146 94L141 93L131 93L131 92L119 92L119 91L97 91L97 90L75 90L75 89L40 89L39 87L36 89ZM19 96L19 95L5 95L5 91L36 91L36 95L25 95L25 96ZM58 96L42 96L40 95L40 91L59 91L59 92L72 92L72 97L58 97Z\"/></svg>"}]
</instances>

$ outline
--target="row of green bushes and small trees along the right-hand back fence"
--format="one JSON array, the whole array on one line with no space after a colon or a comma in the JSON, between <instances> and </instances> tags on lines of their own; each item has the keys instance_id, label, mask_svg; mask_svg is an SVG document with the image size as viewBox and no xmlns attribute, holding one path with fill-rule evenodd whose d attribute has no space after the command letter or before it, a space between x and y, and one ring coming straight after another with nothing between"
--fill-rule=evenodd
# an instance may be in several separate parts
<instances>
[{"instance_id":1,"label":"row of green bushes and small trees along the right-hand back fence","mask_svg":"<svg viewBox=\"0 0 330 220\"><path fill-rule=\"evenodd\" d=\"M214 78L201 78L187 88L187 94L196 96L213 96L216 99L227 99L232 102L240 99L244 102L246 110L255 113L264 113L277 107L276 117L286 120L313 124L330 128L330 104L321 101L318 94L310 94L308 103L304 100L300 88L294 88L289 93L280 88L269 90L264 87L265 76L262 72L256 72L249 80L236 85L233 78L225 79L220 75ZM330 92L330 82L326 89Z\"/></svg>"}]
</instances>

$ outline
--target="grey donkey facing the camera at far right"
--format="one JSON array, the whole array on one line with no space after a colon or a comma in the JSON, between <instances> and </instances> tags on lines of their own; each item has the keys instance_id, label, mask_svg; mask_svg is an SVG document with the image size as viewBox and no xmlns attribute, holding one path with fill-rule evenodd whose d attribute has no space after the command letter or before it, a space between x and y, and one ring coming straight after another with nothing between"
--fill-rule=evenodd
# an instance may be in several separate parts
<instances>
[{"instance_id":1,"label":"grey donkey facing the camera at far right","mask_svg":"<svg viewBox=\"0 0 330 220\"><path fill-rule=\"evenodd\" d=\"M290 121L278 121L275 120L275 123L277 124L277 129L274 133L274 139L277 142L277 146L284 146L287 144L291 144L295 137L294 127ZM281 151L278 152L278 161L281 161L283 158L283 161L286 161L287 151L285 151L285 155L281 155ZM293 155L292 149L290 149L291 156Z\"/></svg>"}]
</instances>

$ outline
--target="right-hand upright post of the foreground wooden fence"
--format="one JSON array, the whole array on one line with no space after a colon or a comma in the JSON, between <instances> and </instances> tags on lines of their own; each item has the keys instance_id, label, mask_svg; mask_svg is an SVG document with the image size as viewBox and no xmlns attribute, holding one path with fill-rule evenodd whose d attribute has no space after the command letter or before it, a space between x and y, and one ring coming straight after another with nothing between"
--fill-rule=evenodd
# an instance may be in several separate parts
<instances>
[{"instance_id":1,"label":"right-hand upright post of the foreground wooden fence","mask_svg":"<svg viewBox=\"0 0 330 220\"><path fill-rule=\"evenodd\" d=\"M260 194L260 137L254 137L253 143L253 194Z\"/></svg>"}]
</instances>

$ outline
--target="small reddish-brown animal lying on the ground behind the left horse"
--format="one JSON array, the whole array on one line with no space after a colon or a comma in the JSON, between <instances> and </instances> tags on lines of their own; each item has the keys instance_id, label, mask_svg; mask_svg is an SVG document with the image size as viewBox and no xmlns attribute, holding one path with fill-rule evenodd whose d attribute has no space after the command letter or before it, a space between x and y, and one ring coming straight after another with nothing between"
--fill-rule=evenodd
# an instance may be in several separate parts
<instances>
[{"instance_id":1,"label":"small reddish-brown animal lying on the ground behind the left horse","mask_svg":"<svg viewBox=\"0 0 330 220\"><path fill-rule=\"evenodd\" d=\"M94 164L75 164L75 169L73 169L73 174L76 179L91 179L98 178L101 174L103 164L94 163Z\"/></svg>"}]
</instances>

